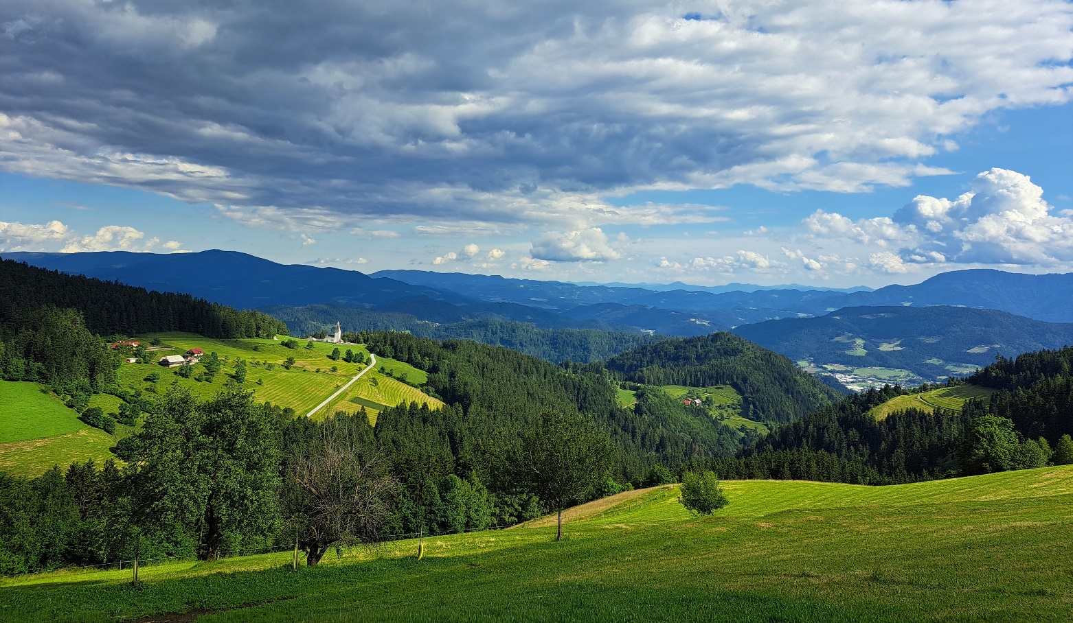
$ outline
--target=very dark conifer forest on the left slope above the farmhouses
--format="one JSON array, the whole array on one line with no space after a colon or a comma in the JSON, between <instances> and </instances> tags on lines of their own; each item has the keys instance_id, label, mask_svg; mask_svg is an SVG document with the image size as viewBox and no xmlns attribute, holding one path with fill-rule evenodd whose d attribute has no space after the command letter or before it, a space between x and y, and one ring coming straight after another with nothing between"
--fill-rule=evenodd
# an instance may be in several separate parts
<instances>
[{"instance_id":1,"label":"very dark conifer forest on the left slope above the farmhouses","mask_svg":"<svg viewBox=\"0 0 1073 623\"><path fill-rule=\"evenodd\" d=\"M0 322L16 310L40 307L78 310L86 328L99 336L187 331L209 338L268 338L288 335L286 325L267 314L143 287L65 275L0 259Z\"/></svg>"}]
</instances>

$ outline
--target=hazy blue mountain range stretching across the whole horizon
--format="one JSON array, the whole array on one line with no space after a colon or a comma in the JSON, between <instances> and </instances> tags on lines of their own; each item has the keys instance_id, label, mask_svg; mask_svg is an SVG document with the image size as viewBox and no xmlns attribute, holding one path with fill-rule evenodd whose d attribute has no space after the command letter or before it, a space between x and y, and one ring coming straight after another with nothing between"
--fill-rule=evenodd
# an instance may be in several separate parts
<instances>
[{"instance_id":1,"label":"hazy blue mountain range stretching across the whole horizon","mask_svg":"<svg viewBox=\"0 0 1073 623\"><path fill-rule=\"evenodd\" d=\"M528 323L548 330L682 337L733 328L795 360L899 368L925 379L984 366L997 352L1014 356L1073 343L1073 325L1047 324L1073 323L1073 273L957 270L915 285L876 291L740 285L741 290L722 292L723 286L680 284L675 290L665 290L670 285L651 290L421 270L384 270L368 276L282 265L216 250L166 255L98 252L3 256L63 272L189 293L237 308L275 308L295 327L297 323L323 322L325 309L305 313L293 308L326 305L394 314L351 314L355 328L362 328L363 323L409 328L416 323L454 326L480 322L464 327L467 336L502 333L506 325L495 322ZM283 307L292 309L284 312ZM836 311L846 308L854 309ZM374 328L371 325L367 328ZM427 327L424 330L432 332ZM449 329L440 331L441 337L450 336L445 331ZM511 340L520 339L516 336L535 339L520 327L510 327L509 333ZM928 341L931 338L937 339ZM546 350L546 340L560 338L543 336L532 347ZM548 352L564 356L561 353L568 351L579 353L562 348ZM603 350L614 351L611 346Z\"/></svg>"}]
</instances>

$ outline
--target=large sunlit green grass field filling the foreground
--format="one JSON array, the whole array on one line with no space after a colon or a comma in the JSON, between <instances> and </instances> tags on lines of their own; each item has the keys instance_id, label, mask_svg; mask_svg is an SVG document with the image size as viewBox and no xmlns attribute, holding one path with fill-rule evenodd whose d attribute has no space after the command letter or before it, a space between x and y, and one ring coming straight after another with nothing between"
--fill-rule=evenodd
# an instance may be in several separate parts
<instances>
[{"instance_id":1,"label":"large sunlit green grass field filling the foreground","mask_svg":"<svg viewBox=\"0 0 1073 623\"><path fill-rule=\"evenodd\" d=\"M893 487L674 486L554 521L351 549L0 580L5 621L1054 621L1073 618L1073 466ZM193 617L181 619L192 620Z\"/></svg>"}]
</instances>

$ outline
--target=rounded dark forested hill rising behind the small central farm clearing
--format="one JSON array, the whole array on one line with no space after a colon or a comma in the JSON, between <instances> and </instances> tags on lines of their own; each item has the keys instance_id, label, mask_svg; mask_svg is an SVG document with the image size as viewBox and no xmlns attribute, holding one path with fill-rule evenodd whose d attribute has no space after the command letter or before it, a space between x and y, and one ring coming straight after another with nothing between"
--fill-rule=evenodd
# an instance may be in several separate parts
<instances>
[{"instance_id":1,"label":"rounded dark forested hill rising behind the small central farm clearing","mask_svg":"<svg viewBox=\"0 0 1073 623\"><path fill-rule=\"evenodd\" d=\"M766 424L803 417L841 395L782 355L727 332L672 338L607 360L617 379L643 385L730 385L741 415Z\"/></svg>"}]
</instances>

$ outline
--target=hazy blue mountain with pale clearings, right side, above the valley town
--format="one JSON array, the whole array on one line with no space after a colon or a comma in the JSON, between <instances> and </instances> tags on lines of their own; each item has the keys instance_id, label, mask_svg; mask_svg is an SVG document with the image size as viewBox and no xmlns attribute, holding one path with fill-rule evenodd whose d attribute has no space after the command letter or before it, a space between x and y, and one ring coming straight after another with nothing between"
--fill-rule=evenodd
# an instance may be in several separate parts
<instances>
[{"instance_id":1,"label":"hazy blue mountain with pale clearings, right side, above the valley town","mask_svg":"<svg viewBox=\"0 0 1073 623\"><path fill-rule=\"evenodd\" d=\"M734 332L794 360L899 368L926 380L966 366L983 368L998 354L1014 357L1073 344L1070 323L951 306L850 307L819 317L740 326Z\"/></svg>"}]
</instances>

